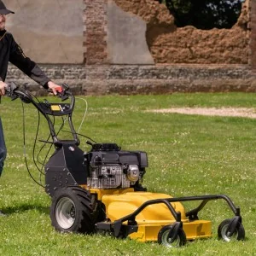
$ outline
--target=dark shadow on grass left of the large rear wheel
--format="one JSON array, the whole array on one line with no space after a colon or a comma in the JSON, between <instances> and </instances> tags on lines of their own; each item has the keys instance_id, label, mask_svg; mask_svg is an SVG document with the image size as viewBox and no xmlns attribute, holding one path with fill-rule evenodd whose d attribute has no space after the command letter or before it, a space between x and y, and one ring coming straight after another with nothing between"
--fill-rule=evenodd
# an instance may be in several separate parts
<instances>
[{"instance_id":1,"label":"dark shadow on grass left of the large rear wheel","mask_svg":"<svg viewBox=\"0 0 256 256\"><path fill-rule=\"evenodd\" d=\"M10 215L13 213L21 213L21 212L26 212L26 211L37 211L37 212L41 212L41 213L45 213L45 214L49 214L49 207L44 207L42 205L39 204L22 204L22 205L18 205L15 207L6 207L6 208L2 208L1 212L3 212L4 214Z\"/></svg>"}]
</instances>

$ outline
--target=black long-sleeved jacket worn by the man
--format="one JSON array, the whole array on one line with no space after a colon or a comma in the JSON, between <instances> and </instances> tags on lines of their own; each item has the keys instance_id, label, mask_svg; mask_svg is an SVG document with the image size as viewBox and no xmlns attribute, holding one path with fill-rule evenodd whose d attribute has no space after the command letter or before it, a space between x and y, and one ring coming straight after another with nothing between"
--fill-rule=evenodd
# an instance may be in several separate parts
<instances>
[{"instance_id":1,"label":"black long-sleeved jacket worn by the man","mask_svg":"<svg viewBox=\"0 0 256 256\"><path fill-rule=\"evenodd\" d=\"M48 88L47 83L50 79L34 61L24 55L13 35L4 30L0 31L0 79L3 82L6 78L9 61L38 84Z\"/></svg>"}]
</instances>

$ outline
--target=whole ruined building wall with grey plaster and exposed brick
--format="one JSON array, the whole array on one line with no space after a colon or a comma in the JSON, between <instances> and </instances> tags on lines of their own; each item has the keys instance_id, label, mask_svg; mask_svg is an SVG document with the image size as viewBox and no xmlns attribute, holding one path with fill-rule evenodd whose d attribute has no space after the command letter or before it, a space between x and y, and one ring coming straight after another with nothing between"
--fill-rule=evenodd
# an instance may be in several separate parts
<instances>
[{"instance_id":1,"label":"whole ruined building wall with grey plaster and exposed brick","mask_svg":"<svg viewBox=\"0 0 256 256\"><path fill-rule=\"evenodd\" d=\"M43 20L35 2L45 9ZM212 30L178 28L166 6L155 0L16 4L9 4L18 9L9 30L50 78L70 84L78 94L256 91L253 0L243 3L235 26ZM38 21L29 26L32 20ZM12 66L9 80L33 84Z\"/></svg>"}]
</instances>

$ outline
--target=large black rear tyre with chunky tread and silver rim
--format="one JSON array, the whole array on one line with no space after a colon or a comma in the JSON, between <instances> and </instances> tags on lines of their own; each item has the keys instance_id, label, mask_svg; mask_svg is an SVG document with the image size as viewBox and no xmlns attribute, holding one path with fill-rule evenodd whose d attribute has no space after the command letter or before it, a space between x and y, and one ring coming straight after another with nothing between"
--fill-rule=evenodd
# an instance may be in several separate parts
<instances>
[{"instance_id":1,"label":"large black rear tyre with chunky tread and silver rim","mask_svg":"<svg viewBox=\"0 0 256 256\"><path fill-rule=\"evenodd\" d=\"M58 189L52 197L49 217L55 230L90 234L95 229L90 194L80 187Z\"/></svg>"}]
</instances>

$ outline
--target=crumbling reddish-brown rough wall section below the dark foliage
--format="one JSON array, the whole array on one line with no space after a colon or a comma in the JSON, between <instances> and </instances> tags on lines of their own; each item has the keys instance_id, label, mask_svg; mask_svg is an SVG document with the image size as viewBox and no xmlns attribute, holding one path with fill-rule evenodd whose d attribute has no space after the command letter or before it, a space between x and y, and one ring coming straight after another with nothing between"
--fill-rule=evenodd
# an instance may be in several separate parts
<instances>
[{"instance_id":1,"label":"crumbling reddish-brown rough wall section below the dark foliage","mask_svg":"<svg viewBox=\"0 0 256 256\"><path fill-rule=\"evenodd\" d=\"M117 9L140 17L147 25L146 40L154 63L247 64L248 12L244 3L230 29L177 27L166 4L153 0L113 0ZM161 14L161 15L158 15ZM132 37L131 37L132 38ZM130 39L131 41L131 38Z\"/></svg>"}]
</instances>

